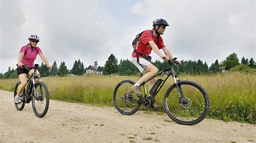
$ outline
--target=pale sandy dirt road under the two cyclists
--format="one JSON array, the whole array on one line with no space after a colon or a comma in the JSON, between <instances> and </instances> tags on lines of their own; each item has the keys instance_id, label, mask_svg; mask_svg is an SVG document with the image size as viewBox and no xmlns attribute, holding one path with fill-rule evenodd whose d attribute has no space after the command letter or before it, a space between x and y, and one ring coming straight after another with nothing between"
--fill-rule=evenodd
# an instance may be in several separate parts
<instances>
[{"instance_id":1,"label":"pale sandy dirt road under the two cyclists","mask_svg":"<svg viewBox=\"0 0 256 143\"><path fill-rule=\"evenodd\" d=\"M170 122L167 122L170 121ZM193 126L166 115L50 100L48 113L35 116L32 103L18 111L13 93L0 90L0 143L191 143L256 142L256 125L205 119Z\"/></svg>"}]
</instances>

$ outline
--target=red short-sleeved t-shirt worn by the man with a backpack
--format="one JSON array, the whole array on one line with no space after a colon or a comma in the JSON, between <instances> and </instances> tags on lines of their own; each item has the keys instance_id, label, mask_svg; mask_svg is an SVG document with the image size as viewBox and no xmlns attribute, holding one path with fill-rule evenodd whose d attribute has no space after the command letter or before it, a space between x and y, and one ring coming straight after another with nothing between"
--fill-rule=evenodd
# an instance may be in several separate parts
<instances>
[{"instance_id":1,"label":"red short-sleeved t-shirt worn by the man with a backpack","mask_svg":"<svg viewBox=\"0 0 256 143\"><path fill-rule=\"evenodd\" d=\"M135 50L137 50L137 52L141 55L150 55L152 50L150 44L148 43L150 41L154 41L158 46L158 49L165 47L165 44L163 43L163 38L159 36L159 40L157 42L157 37L155 37L154 35L152 37L151 30L146 30L145 32L143 32L143 34L141 34L141 36L139 37L138 41L140 42L137 43L138 45L135 45ZM132 52L132 57L137 57L134 51ZM139 57L141 56L139 55Z\"/></svg>"}]
</instances>

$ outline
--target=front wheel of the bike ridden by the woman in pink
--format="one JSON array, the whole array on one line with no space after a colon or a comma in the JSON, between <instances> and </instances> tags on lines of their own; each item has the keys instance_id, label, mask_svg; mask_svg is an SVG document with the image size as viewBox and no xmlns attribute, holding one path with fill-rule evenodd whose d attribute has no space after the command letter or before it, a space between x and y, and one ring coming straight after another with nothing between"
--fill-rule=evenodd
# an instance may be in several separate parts
<instances>
[{"instance_id":1,"label":"front wheel of the bike ridden by the woman in pink","mask_svg":"<svg viewBox=\"0 0 256 143\"><path fill-rule=\"evenodd\" d=\"M36 95L35 95L36 93ZM46 115L49 107L49 92L45 83L36 82L35 91L32 93L32 107L37 117Z\"/></svg>"}]
</instances>

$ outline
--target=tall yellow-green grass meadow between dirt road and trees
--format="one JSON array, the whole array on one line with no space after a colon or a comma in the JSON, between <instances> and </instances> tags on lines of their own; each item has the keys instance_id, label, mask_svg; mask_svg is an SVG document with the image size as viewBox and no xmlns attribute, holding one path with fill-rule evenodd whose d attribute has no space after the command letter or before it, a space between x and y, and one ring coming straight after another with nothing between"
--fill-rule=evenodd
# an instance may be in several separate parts
<instances>
[{"instance_id":1,"label":"tall yellow-green grass meadow between dirt road and trees","mask_svg":"<svg viewBox=\"0 0 256 143\"><path fill-rule=\"evenodd\" d=\"M255 73L235 71L214 75L180 75L179 77L180 80L195 81L206 89L211 103L207 118L256 124ZM48 86L50 99L114 106L113 91L118 82L127 79L137 81L139 78L139 76L87 75L44 77L42 81ZM19 79L1 79L0 89L13 91L17 81ZM171 84L173 80L169 78L156 96L156 104L163 107L163 96ZM161 109L158 112L165 111Z\"/></svg>"}]
</instances>

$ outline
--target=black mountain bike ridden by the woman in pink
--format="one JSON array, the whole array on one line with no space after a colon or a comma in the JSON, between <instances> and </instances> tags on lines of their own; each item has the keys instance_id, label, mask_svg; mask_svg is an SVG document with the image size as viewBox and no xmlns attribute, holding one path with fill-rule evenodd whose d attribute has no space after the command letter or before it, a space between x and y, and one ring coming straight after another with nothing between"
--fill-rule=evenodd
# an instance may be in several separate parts
<instances>
[{"instance_id":1,"label":"black mountain bike ridden by the woman in pink","mask_svg":"<svg viewBox=\"0 0 256 143\"><path fill-rule=\"evenodd\" d=\"M46 69L49 70L48 67L38 67L38 64L35 64L34 67L29 67L26 65L22 65L25 68L34 69L34 73L31 74L27 79L27 86L21 93L22 101L20 103L15 103L15 107L17 110L22 110L26 103L30 103L32 100L32 107L34 113L37 117L42 118L46 115L49 107L49 92L45 83L41 81L41 78L37 76L36 69ZM39 81L35 81L35 79L39 79ZM21 82L17 82L14 89L14 97L17 95L18 87Z\"/></svg>"}]
</instances>

